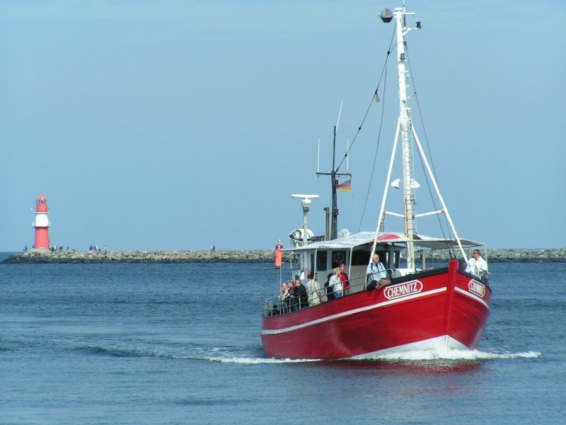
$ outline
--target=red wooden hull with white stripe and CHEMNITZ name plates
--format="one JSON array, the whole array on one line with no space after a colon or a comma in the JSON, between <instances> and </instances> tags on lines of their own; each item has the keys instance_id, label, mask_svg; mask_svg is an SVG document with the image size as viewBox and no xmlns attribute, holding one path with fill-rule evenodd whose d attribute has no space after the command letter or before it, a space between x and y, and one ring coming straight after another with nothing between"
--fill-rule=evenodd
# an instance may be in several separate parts
<instances>
[{"instance_id":1,"label":"red wooden hull with white stripe and CHEMNITZ name plates","mask_svg":"<svg viewBox=\"0 0 566 425\"><path fill-rule=\"evenodd\" d=\"M395 279L316 307L263 318L262 344L276 358L352 358L420 348L478 345L489 287L449 268Z\"/></svg>"}]
</instances>

